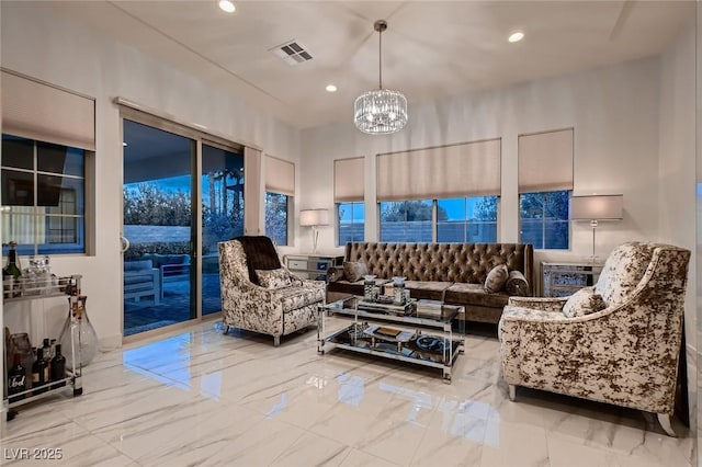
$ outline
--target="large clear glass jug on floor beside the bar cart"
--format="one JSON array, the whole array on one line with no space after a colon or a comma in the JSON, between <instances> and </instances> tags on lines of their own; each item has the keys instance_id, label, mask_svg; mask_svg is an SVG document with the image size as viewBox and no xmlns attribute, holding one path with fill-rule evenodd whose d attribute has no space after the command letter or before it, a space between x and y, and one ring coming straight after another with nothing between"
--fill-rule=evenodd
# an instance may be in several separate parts
<instances>
[{"instance_id":1,"label":"large clear glass jug on floor beside the bar cart","mask_svg":"<svg viewBox=\"0 0 702 467\"><path fill-rule=\"evenodd\" d=\"M75 293L78 293L75 289ZM73 366L73 354L76 357L76 367L88 365L98 352L98 334L88 318L86 310L86 301L88 297L84 295L71 295L68 297L68 317L64 323L64 329L58 338L58 342L64 349L66 365L71 368ZM71 341L75 348L71 346ZM80 355L80 357L78 357Z\"/></svg>"}]
</instances>

